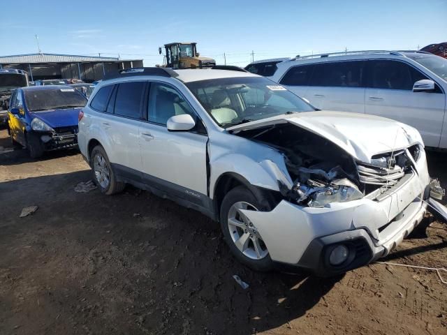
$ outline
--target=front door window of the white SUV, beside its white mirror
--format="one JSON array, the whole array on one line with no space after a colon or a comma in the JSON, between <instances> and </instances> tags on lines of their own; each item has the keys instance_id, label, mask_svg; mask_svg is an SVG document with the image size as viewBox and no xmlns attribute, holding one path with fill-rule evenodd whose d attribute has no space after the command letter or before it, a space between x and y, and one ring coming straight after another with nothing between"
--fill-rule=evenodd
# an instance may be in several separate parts
<instances>
[{"instance_id":1,"label":"front door window of the white SUV, beside its white mirror","mask_svg":"<svg viewBox=\"0 0 447 335\"><path fill-rule=\"evenodd\" d=\"M368 61L368 87L411 90L416 79L422 75L414 71L402 61Z\"/></svg>"}]
</instances>

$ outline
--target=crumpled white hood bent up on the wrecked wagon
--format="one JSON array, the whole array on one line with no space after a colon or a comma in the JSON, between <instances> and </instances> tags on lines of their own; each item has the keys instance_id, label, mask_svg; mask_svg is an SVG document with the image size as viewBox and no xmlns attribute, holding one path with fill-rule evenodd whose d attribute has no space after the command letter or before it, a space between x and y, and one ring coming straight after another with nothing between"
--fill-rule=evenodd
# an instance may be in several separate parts
<instances>
[{"instance_id":1,"label":"crumpled white hood bent up on the wrecked wagon","mask_svg":"<svg viewBox=\"0 0 447 335\"><path fill-rule=\"evenodd\" d=\"M412 144L423 145L419 132L406 124L368 114L351 112L302 112L283 114L227 128L242 131L289 122L337 144L354 158L371 163L371 157Z\"/></svg>"}]
</instances>

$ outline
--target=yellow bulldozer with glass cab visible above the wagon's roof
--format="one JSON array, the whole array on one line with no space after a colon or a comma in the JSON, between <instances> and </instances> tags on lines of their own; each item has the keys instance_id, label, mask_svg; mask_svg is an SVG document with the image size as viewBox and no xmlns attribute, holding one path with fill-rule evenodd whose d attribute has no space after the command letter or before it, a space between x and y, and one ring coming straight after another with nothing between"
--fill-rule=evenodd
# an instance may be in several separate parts
<instances>
[{"instance_id":1,"label":"yellow bulldozer with glass cab visible above the wagon's roof","mask_svg":"<svg viewBox=\"0 0 447 335\"><path fill-rule=\"evenodd\" d=\"M207 68L216 65L216 61L209 57L200 57L197 52L197 43L168 43L165 44L163 55L163 68ZM159 47L159 54L163 48Z\"/></svg>"}]
</instances>

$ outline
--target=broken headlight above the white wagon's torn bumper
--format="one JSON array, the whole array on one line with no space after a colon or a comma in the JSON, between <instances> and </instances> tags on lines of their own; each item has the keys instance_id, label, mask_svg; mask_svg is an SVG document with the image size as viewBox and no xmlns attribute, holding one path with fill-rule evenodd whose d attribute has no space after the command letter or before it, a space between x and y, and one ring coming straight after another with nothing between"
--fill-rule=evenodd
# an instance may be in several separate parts
<instances>
[{"instance_id":1,"label":"broken headlight above the white wagon's torn bumper","mask_svg":"<svg viewBox=\"0 0 447 335\"><path fill-rule=\"evenodd\" d=\"M349 179L335 179L330 184L312 179L307 184L297 184L295 192L300 195L297 202L309 207L324 207L332 202L348 202L363 198L363 193Z\"/></svg>"}]
</instances>

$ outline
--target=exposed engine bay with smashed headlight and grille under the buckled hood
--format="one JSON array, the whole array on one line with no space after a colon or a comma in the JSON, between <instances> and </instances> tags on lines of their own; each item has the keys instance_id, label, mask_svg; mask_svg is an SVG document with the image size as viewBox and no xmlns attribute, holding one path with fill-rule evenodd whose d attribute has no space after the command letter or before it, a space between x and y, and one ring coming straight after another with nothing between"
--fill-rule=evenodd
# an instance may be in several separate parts
<instances>
[{"instance_id":1,"label":"exposed engine bay with smashed headlight and grille under the buckled hood","mask_svg":"<svg viewBox=\"0 0 447 335\"><path fill-rule=\"evenodd\" d=\"M378 189L386 191L413 171L419 155L416 145L373 156L371 163L358 162L336 144L291 124L245 130L237 135L268 144L284 155L293 187L280 184L281 194L308 207L361 199Z\"/></svg>"}]
</instances>

